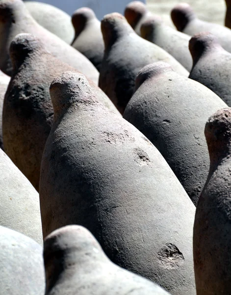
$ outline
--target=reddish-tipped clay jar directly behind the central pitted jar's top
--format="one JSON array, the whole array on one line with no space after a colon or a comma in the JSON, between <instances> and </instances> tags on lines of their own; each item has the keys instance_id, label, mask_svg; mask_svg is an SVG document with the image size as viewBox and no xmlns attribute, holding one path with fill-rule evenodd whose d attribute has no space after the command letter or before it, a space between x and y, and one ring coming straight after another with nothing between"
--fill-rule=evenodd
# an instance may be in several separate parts
<instances>
[{"instance_id":1,"label":"reddish-tipped clay jar directly behind the central pitted jar's top","mask_svg":"<svg viewBox=\"0 0 231 295\"><path fill-rule=\"evenodd\" d=\"M166 61L184 76L188 71L169 53L138 36L119 13L104 16L101 24L105 52L99 86L123 114L135 86L135 77L145 65Z\"/></svg>"}]
</instances>

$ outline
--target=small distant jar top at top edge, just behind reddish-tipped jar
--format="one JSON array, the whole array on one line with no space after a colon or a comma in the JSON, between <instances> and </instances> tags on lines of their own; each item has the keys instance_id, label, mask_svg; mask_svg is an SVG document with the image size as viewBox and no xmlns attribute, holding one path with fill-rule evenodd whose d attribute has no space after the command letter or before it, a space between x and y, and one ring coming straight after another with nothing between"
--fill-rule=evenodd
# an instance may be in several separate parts
<instances>
[{"instance_id":1,"label":"small distant jar top at top edge, just behind reddish-tipped jar","mask_svg":"<svg viewBox=\"0 0 231 295\"><path fill-rule=\"evenodd\" d=\"M140 36L141 25L152 13L143 2L132 1L126 6L124 15L131 28Z\"/></svg>"}]
</instances>

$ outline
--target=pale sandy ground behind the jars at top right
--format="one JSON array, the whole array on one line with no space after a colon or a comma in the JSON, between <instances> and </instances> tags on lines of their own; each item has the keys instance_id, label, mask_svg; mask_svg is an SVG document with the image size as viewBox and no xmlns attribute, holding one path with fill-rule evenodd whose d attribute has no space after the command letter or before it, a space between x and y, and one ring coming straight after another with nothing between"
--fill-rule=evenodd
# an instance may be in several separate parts
<instances>
[{"instance_id":1,"label":"pale sandy ground behind the jars at top right","mask_svg":"<svg viewBox=\"0 0 231 295\"><path fill-rule=\"evenodd\" d=\"M224 24L225 0L147 0L148 9L154 14L162 16L166 24L173 26L170 11L171 9L180 2L189 3L197 16L205 21Z\"/></svg>"}]
</instances>

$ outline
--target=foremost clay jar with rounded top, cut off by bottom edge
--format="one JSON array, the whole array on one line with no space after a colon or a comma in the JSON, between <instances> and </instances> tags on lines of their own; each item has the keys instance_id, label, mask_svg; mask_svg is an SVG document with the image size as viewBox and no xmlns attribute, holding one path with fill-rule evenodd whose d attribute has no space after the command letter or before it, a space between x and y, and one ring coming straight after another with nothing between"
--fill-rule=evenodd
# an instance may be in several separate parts
<instances>
[{"instance_id":1,"label":"foremost clay jar with rounded top, cut off by bottom edge","mask_svg":"<svg viewBox=\"0 0 231 295\"><path fill-rule=\"evenodd\" d=\"M44 243L45 295L169 295L154 283L113 264L94 236L70 225Z\"/></svg>"}]
</instances>

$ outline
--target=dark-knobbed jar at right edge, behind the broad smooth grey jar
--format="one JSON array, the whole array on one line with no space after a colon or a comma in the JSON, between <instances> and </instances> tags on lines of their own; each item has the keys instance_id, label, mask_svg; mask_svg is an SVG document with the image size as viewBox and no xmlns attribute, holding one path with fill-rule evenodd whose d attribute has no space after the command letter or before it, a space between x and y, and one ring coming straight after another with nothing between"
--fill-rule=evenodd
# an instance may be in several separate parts
<instances>
[{"instance_id":1,"label":"dark-knobbed jar at right edge, behind the broad smooth grey jar","mask_svg":"<svg viewBox=\"0 0 231 295\"><path fill-rule=\"evenodd\" d=\"M189 49L193 57L189 78L205 85L231 106L231 54L208 32L194 35Z\"/></svg>"}]
</instances>

